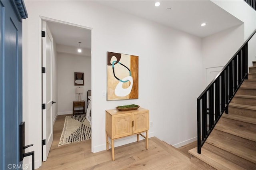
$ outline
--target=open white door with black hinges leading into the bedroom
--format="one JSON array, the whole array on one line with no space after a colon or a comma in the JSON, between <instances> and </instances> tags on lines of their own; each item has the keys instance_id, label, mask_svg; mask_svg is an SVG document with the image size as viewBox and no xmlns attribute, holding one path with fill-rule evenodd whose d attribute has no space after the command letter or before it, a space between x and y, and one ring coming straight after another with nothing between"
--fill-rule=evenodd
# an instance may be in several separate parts
<instances>
[{"instance_id":1,"label":"open white door with black hinges leading into the bedroom","mask_svg":"<svg viewBox=\"0 0 256 170\"><path fill-rule=\"evenodd\" d=\"M52 53L53 40L50 30L45 21L42 21L42 31L45 31L45 37L42 37L42 67L45 72L42 73L42 103L45 103L45 109L42 110L42 139L45 139L45 145L42 146L42 158L46 161L53 140L52 124Z\"/></svg>"}]
</instances>

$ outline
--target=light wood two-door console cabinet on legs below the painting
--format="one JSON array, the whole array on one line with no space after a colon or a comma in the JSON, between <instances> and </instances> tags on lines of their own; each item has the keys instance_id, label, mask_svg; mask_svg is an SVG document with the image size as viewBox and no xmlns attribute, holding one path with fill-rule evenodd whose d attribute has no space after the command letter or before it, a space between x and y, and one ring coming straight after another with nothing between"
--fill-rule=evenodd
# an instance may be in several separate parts
<instances>
[{"instance_id":1,"label":"light wood two-door console cabinet on legs below the painting","mask_svg":"<svg viewBox=\"0 0 256 170\"><path fill-rule=\"evenodd\" d=\"M112 148L112 160L114 155L114 139L122 138L137 134L137 142L139 135L146 139L146 149L148 149L148 129L149 129L149 111L147 109L138 108L131 111L118 111L116 109L106 110L106 148ZM146 132L146 136L141 134ZM108 141L108 137L111 143Z\"/></svg>"}]
</instances>

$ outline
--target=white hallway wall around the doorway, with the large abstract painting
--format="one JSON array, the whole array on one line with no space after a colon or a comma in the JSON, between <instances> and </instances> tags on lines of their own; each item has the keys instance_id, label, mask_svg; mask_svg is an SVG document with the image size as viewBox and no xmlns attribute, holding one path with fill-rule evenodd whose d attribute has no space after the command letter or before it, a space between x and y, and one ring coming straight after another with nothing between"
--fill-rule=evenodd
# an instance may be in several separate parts
<instances>
[{"instance_id":1,"label":"white hallway wall around the doorway, with the large abstract painting","mask_svg":"<svg viewBox=\"0 0 256 170\"><path fill-rule=\"evenodd\" d=\"M24 118L29 117L25 120L30 129L26 140L34 144L30 150L35 150L36 168L41 165L39 16L92 28L93 152L106 149L105 110L132 103L150 110L153 121L150 136L169 144L194 140L196 97L202 91L200 38L90 1L25 1L25 4L29 18L23 22L28 28L23 34L26 54L23 56L28 62L24 63L28 66L24 68L24 80L28 81L24 103L29 106ZM106 101L102 97L107 88L107 51L139 56L139 99ZM115 145L131 141L136 141L136 137Z\"/></svg>"}]
</instances>

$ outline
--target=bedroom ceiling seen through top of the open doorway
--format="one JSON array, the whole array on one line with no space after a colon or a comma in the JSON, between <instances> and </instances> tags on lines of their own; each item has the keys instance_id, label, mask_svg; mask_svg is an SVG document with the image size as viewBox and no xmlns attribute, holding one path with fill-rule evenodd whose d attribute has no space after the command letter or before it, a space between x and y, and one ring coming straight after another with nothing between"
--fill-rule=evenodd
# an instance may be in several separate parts
<instances>
[{"instance_id":1,"label":"bedroom ceiling seen through top of the open doorway","mask_svg":"<svg viewBox=\"0 0 256 170\"><path fill-rule=\"evenodd\" d=\"M47 25L49 26L52 36L57 44L79 47L78 42L82 42L80 44L81 48L91 49L91 30L56 22L47 22Z\"/></svg>"}]
</instances>

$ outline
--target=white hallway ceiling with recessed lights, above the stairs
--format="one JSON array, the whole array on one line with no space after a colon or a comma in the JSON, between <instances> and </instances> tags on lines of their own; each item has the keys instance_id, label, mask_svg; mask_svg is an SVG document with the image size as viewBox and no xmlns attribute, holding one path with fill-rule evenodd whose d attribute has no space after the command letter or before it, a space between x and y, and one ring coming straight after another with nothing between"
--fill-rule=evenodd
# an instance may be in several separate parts
<instances>
[{"instance_id":1,"label":"white hallway ceiling with recessed lights, above the stairs","mask_svg":"<svg viewBox=\"0 0 256 170\"><path fill-rule=\"evenodd\" d=\"M158 7L154 6L157 0L95 2L201 38L243 23L210 0L159 0ZM203 22L207 25L201 27Z\"/></svg>"}]
</instances>

